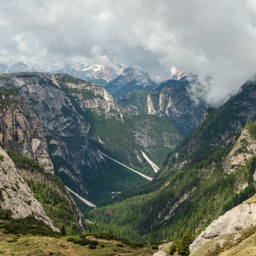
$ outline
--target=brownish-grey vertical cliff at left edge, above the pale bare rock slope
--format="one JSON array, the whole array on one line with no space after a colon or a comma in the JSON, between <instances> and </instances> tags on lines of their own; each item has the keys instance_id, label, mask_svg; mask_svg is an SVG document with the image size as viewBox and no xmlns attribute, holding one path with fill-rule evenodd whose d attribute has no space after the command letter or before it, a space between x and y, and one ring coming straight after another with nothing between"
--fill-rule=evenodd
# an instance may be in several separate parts
<instances>
[{"instance_id":1,"label":"brownish-grey vertical cliff at left edge, above the pale bare rock slope","mask_svg":"<svg viewBox=\"0 0 256 256\"><path fill-rule=\"evenodd\" d=\"M21 96L4 94L0 94L0 101L4 105L0 113L0 146L33 158L46 172L53 173L42 125L28 102Z\"/></svg>"}]
</instances>

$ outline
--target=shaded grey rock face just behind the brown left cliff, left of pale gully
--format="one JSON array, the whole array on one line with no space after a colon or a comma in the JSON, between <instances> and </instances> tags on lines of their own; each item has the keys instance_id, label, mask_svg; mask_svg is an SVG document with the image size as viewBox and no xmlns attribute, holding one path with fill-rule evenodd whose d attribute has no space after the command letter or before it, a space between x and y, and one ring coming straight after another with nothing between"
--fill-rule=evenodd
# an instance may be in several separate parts
<instances>
[{"instance_id":1,"label":"shaded grey rock face just behind the brown left cliff, left of pale gully","mask_svg":"<svg viewBox=\"0 0 256 256\"><path fill-rule=\"evenodd\" d=\"M2 74L0 86L18 91L28 100L47 134L51 160L58 162L55 172L67 175L86 193L82 166L96 170L101 158L88 140L90 124L76 113L55 76L46 73ZM34 141L35 147L37 142Z\"/></svg>"}]
</instances>

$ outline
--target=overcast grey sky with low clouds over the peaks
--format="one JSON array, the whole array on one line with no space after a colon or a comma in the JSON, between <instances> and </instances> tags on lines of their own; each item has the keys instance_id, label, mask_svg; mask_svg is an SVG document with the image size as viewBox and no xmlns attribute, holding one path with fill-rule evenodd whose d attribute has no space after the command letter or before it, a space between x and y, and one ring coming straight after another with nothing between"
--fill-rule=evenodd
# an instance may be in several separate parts
<instances>
[{"instance_id":1,"label":"overcast grey sky with low clouds over the peaks","mask_svg":"<svg viewBox=\"0 0 256 256\"><path fill-rule=\"evenodd\" d=\"M218 103L256 72L256 1L0 0L1 63L109 59L154 79L171 65L211 75L203 96Z\"/></svg>"}]
</instances>

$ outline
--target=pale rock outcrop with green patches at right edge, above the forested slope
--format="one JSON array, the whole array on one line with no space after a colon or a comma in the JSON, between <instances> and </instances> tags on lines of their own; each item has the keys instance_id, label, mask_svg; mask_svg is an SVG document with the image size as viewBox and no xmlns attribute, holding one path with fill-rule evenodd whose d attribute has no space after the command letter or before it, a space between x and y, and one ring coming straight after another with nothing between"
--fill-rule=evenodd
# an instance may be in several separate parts
<instances>
[{"instance_id":1,"label":"pale rock outcrop with green patches at right edge, above the forested slope","mask_svg":"<svg viewBox=\"0 0 256 256\"><path fill-rule=\"evenodd\" d=\"M227 173L234 172L234 170L244 166L255 154L256 139L251 135L248 127L245 127L222 164L224 171Z\"/></svg>"}]
</instances>

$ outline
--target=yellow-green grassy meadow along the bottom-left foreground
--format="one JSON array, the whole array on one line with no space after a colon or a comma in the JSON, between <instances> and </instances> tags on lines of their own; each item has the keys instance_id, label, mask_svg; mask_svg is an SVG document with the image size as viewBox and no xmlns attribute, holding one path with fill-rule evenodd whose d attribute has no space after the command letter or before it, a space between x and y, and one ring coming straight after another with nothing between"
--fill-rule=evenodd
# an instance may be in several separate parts
<instances>
[{"instance_id":1,"label":"yellow-green grassy meadow along the bottom-left foreground","mask_svg":"<svg viewBox=\"0 0 256 256\"><path fill-rule=\"evenodd\" d=\"M61 238L49 236L20 236L17 242L8 243L15 235L0 233L0 255L19 255L19 256L48 256L48 255L75 255L75 256L115 256L115 255L134 255L134 256L150 256L156 250L151 247L134 248L124 245L123 248L118 247L119 241L107 241L104 239L96 239L88 236L91 240L98 241L99 245L96 249L89 249L88 245L81 246L71 242L67 242L70 236ZM75 236L73 236L75 237ZM100 245L102 245L102 248Z\"/></svg>"}]
</instances>

